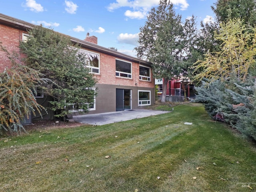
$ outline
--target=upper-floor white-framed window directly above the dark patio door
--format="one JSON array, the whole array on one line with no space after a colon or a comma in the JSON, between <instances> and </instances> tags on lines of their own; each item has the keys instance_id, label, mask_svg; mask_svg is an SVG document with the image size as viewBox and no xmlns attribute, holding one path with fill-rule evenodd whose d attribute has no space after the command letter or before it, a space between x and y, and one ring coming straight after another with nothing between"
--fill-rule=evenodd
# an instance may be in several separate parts
<instances>
[{"instance_id":1,"label":"upper-floor white-framed window directly above the dark patio door","mask_svg":"<svg viewBox=\"0 0 256 192\"><path fill-rule=\"evenodd\" d=\"M132 63L116 59L116 76L132 78Z\"/></svg>"}]
</instances>

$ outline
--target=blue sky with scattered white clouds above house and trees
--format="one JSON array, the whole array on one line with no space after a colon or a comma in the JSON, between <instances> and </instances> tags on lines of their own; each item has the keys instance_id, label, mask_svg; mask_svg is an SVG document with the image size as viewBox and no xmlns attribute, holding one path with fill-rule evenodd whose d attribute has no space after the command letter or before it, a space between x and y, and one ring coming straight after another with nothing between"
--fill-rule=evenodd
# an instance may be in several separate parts
<instances>
[{"instance_id":1,"label":"blue sky with scattered white clouds above house and trees","mask_svg":"<svg viewBox=\"0 0 256 192\"><path fill-rule=\"evenodd\" d=\"M217 0L171 0L176 14L194 15L200 21L214 18L211 6ZM84 40L87 32L98 37L98 45L115 47L136 56L134 47L148 11L159 0L0 0L0 13L51 26L55 31Z\"/></svg>"}]
</instances>

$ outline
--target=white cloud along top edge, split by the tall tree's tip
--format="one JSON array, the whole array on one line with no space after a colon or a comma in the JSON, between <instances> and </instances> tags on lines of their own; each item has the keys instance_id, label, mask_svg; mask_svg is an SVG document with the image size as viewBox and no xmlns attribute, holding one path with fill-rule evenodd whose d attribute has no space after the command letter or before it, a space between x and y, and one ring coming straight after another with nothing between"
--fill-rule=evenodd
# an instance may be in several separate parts
<instances>
[{"instance_id":1,"label":"white cloud along top edge, split by the tall tree's tip","mask_svg":"<svg viewBox=\"0 0 256 192\"><path fill-rule=\"evenodd\" d=\"M157 6L159 2L160 0L116 0L116 2L110 3L107 9L108 11L114 11L121 7L130 7L134 11L148 11L153 6ZM180 6L180 10L186 10L189 6L187 0L170 0L170 2L176 6Z\"/></svg>"}]
</instances>

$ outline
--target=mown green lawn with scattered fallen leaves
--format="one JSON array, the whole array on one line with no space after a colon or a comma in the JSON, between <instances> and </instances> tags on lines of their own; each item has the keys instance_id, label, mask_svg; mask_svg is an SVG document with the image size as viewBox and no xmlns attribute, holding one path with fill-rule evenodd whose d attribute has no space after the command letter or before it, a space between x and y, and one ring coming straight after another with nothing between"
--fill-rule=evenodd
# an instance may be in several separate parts
<instances>
[{"instance_id":1,"label":"mown green lawn with scattered fallen leaves","mask_svg":"<svg viewBox=\"0 0 256 192\"><path fill-rule=\"evenodd\" d=\"M0 191L255 191L256 144L212 121L200 104L173 108L126 122L2 138Z\"/></svg>"}]
</instances>

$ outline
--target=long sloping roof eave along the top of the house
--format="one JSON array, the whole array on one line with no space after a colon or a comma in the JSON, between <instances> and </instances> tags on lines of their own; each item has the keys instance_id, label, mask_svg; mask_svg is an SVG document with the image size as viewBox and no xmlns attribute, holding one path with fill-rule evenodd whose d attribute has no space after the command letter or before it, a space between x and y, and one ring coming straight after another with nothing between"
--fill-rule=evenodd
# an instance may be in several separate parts
<instances>
[{"instance_id":1,"label":"long sloping roof eave along the top of the house","mask_svg":"<svg viewBox=\"0 0 256 192\"><path fill-rule=\"evenodd\" d=\"M20 28L22 30L31 29L31 28L34 28L34 27L37 26L37 25L34 25L32 23L22 21L22 20L4 15L4 14L1 14L1 13L0 13L0 23L6 24L8 26L12 26L14 28ZM64 34L64 35L68 36L66 34ZM109 55L112 55L112 56L116 56L118 58L123 58L123 59L129 60L129 61L132 61L132 62L138 62L138 63L144 64L146 66L152 66L152 63L147 62L145 60L142 60L142 59L139 59L139 58L136 58L136 57L133 57L133 56L129 56L129 55L120 53L118 51L114 51L114 50L99 46L97 44L93 44L93 43L90 43L90 42L87 42L87 41L84 41L84 40L80 40L78 38L74 38L74 37L71 37L71 36L68 36L68 37L70 38L72 43L74 43L74 44L78 43L83 48L88 48L90 50L94 50L94 51L101 52L101 53L104 53L104 54L109 54Z\"/></svg>"}]
</instances>

